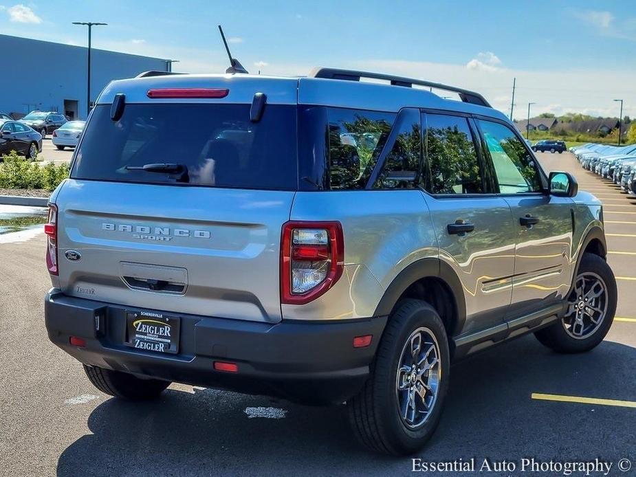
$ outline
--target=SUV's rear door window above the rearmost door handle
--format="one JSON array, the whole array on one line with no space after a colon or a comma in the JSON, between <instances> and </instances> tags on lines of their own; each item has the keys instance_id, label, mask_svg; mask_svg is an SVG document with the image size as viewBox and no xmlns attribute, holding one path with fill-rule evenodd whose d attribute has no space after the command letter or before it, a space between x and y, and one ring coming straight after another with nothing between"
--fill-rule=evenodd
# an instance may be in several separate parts
<instances>
[{"instance_id":1,"label":"SUV's rear door window above the rearmost door handle","mask_svg":"<svg viewBox=\"0 0 636 477\"><path fill-rule=\"evenodd\" d=\"M422 182L431 194L479 194L481 170L468 120L426 114L426 162Z\"/></svg>"}]
</instances>

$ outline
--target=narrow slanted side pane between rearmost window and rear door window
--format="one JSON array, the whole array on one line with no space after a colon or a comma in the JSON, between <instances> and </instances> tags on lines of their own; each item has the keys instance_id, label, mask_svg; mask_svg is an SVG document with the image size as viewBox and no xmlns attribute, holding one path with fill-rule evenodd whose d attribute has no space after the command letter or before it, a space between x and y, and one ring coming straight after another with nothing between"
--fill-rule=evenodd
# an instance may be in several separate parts
<instances>
[{"instance_id":1,"label":"narrow slanted side pane between rearmost window and rear door window","mask_svg":"<svg viewBox=\"0 0 636 477\"><path fill-rule=\"evenodd\" d=\"M414 188L421 156L419 110L402 110L393 127L398 129L395 142L384 159L374 186L382 189Z\"/></svg>"}]
</instances>

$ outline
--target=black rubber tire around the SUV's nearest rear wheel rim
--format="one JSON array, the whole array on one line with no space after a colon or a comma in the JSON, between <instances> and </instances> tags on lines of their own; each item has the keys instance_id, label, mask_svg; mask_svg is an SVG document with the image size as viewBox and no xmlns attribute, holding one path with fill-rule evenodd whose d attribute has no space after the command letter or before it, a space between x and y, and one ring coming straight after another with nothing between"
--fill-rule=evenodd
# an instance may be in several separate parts
<instances>
[{"instance_id":1,"label":"black rubber tire around the SUV's nearest rear wheel rim","mask_svg":"<svg viewBox=\"0 0 636 477\"><path fill-rule=\"evenodd\" d=\"M410 429L399 412L397 368L409 343L408 339L419 329L430 331L437 342L435 352L439 351L439 380L430 414L417 428ZM448 392L449 370L448 337L437 311L420 300L408 299L400 302L388 319L369 379L360 393L347 402L354 434L365 447L375 452L408 455L419 450L430 439L439 423ZM409 373L405 375L408 381ZM429 379L427 372L428 383ZM410 382L415 386L415 380ZM419 395L415 397L420 399Z\"/></svg>"}]
</instances>

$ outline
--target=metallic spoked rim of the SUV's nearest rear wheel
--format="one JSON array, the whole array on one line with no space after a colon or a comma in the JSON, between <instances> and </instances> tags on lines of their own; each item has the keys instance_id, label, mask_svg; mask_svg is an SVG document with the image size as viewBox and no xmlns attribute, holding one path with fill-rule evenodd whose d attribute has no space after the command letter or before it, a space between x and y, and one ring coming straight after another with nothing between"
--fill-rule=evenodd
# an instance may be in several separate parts
<instances>
[{"instance_id":1,"label":"metallic spoked rim of the SUV's nearest rear wheel","mask_svg":"<svg viewBox=\"0 0 636 477\"><path fill-rule=\"evenodd\" d=\"M397 410L406 428L421 428L430 416L441 379L439 345L428 328L413 331L397 363Z\"/></svg>"}]
</instances>

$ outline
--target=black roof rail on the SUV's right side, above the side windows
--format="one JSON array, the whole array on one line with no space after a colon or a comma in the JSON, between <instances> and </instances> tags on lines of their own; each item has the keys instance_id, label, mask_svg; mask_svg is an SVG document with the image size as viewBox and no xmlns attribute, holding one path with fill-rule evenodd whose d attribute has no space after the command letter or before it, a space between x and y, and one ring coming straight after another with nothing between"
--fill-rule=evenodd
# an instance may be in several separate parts
<instances>
[{"instance_id":1,"label":"black roof rail on the SUV's right side, above the side windows","mask_svg":"<svg viewBox=\"0 0 636 477\"><path fill-rule=\"evenodd\" d=\"M402 76L393 76L391 74L382 73L369 73L368 71L355 71L354 69L338 69L338 68L314 68L309 73L310 78L327 78L330 80L349 80L360 81L360 78L372 78L375 80L386 80L391 82L393 86L404 86L407 88L413 87L413 85L426 86L430 88L443 89L444 91L453 91L459 94L459 98L463 102L470 102L472 104L479 104L492 108L490 103L485 100L483 96L474 91L468 89L461 89L454 86L442 85L438 82L431 82L426 80L415 80L413 78L404 78Z\"/></svg>"}]
</instances>

